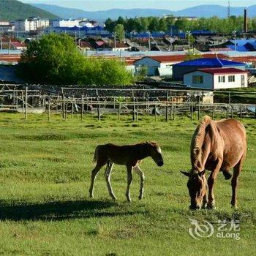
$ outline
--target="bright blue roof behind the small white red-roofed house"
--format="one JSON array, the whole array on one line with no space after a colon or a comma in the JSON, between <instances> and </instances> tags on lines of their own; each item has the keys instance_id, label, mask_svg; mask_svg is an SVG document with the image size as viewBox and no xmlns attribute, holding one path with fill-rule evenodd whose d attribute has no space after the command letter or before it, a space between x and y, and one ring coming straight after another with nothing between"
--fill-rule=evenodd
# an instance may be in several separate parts
<instances>
[{"instance_id":1,"label":"bright blue roof behind the small white red-roofed house","mask_svg":"<svg viewBox=\"0 0 256 256\"><path fill-rule=\"evenodd\" d=\"M225 59L194 59L192 61L183 61L178 64L174 64L173 66L199 66L199 67L228 67L228 66L245 66L244 63L236 62L236 61L226 61Z\"/></svg>"}]
</instances>

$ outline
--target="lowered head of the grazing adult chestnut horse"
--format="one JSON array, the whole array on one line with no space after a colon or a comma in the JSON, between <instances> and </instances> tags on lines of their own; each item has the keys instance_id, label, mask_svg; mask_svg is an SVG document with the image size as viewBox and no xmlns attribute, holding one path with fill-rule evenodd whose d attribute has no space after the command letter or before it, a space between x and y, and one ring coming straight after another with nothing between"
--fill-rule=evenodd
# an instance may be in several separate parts
<instances>
[{"instance_id":1,"label":"lowered head of the grazing adult chestnut horse","mask_svg":"<svg viewBox=\"0 0 256 256\"><path fill-rule=\"evenodd\" d=\"M188 173L181 171L181 173L189 177L189 181L187 181L191 200L189 208L192 210L200 209L203 205L203 197L207 192L206 170L202 172L192 170Z\"/></svg>"}]
</instances>

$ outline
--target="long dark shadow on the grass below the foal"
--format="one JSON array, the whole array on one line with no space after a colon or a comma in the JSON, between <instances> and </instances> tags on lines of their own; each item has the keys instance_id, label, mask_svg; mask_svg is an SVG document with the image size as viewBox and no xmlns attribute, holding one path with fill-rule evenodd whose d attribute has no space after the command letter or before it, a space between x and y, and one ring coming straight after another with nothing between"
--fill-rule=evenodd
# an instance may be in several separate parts
<instances>
[{"instance_id":1,"label":"long dark shadow on the grass below the foal","mask_svg":"<svg viewBox=\"0 0 256 256\"><path fill-rule=\"evenodd\" d=\"M116 202L106 200L54 201L48 203L0 204L0 220L49 220L133 215L136 211L115 211Z\"/></svg>"}]
</instances>

